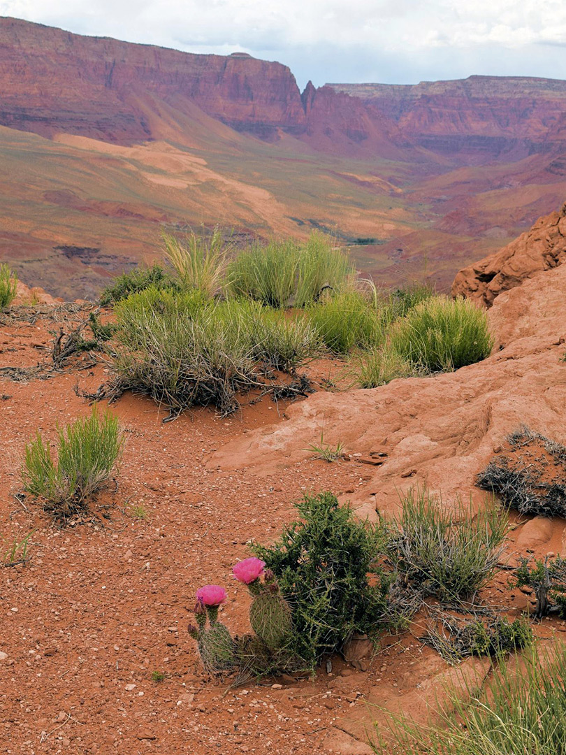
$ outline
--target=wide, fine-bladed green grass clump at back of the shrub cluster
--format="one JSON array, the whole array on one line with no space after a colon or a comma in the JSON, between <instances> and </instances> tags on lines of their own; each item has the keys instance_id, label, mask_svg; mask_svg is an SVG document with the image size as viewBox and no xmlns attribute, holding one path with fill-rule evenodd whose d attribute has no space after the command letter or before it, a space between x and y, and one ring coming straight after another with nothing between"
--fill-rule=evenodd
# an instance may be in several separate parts
<instances>
[{"instance_id":1,"label":"wide, fine-bladed green grass clump at back of the shrub cluster","mask_svg":"<svg viewBox=\"0 0 566 755\"><path fill-rule=\"evenodd\" d=\"M312 233L305 244L294 239L260 242L241 251L228 267L229 291L276 309L306 307L323 291L343 291L355 270L332 239Z\"/></svg>"}]
</instances>

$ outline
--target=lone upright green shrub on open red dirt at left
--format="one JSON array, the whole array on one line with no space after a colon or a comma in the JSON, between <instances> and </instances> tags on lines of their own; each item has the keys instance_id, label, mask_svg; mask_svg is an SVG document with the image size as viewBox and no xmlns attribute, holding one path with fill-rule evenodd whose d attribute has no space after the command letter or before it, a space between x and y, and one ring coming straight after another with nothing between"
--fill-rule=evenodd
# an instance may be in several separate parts
<instances>
[{"instance_id":1,"label":"lone upright green shrub on open red dirt at left","mask_svg":"<svg viewBox=\"0 0 566 755\"><path fill-rule=\"evenodd\" d=\"M27 492L44 499L44 508L56 516L70 516L85 508L110 479L122 453L118 418L100 416L94 407L90 416L57 428L57 461L51 445L37 433L26 444L22 467Z\"/></svg>"}]
</instances>

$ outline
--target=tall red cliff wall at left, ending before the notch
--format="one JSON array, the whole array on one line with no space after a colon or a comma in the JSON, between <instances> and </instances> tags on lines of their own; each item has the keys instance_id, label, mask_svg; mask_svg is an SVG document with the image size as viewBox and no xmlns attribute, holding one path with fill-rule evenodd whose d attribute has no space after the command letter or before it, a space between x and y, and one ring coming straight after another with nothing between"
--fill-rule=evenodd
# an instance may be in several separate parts
<instances>
[{"instance_id":1,"label":"tall red cliff wall at left, ending before the notch","mask_svg":"<svg viewBox=\"0 0 566 755\"><path fill-rule=\"evenodd\" d=\"M115 143L152 138L140 95L186 98L237 130L302 130L287 66L194 55L0 19L0 124L51 137L64 131ZM137 95L137 97L136 97Z\"/></svg>"}]
</instances>

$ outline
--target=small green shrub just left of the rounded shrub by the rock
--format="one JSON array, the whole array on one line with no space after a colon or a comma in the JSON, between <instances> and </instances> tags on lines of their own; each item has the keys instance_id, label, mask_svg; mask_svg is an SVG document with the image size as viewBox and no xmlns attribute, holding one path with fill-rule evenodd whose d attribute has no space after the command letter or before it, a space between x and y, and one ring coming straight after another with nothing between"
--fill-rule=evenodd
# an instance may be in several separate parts
<instances>
[{"instance_id":1,"label":"small green shrub just left of the rounded shrub by the rock","mask_svg":"<svg viewBox=\"0 0 566 755\"><path fill-rule=\"evenodd\" d=\"M358 291L323 297L309 307L309 316L323 344L337 354L372 346L381 338L376 313Z\"/></svg>"}]
</instances>

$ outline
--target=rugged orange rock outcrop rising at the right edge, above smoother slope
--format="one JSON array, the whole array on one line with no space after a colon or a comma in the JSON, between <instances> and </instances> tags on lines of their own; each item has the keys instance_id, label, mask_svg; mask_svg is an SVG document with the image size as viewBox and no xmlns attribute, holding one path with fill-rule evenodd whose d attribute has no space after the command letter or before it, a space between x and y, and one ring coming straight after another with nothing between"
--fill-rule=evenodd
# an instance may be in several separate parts
<instances>
[{"instance_id":1,"label":"rugged orange rock outcrop rising at the right edge, above smoother slope","mask_svg":"<svg viewBox=\"0 0 566 755\"><path fill-rule=\"evenodd\" d=\"M491 307L495 297L543 270L566 260L566 204L540 217L518 239L489 257L463 268L452 285L453 296L465 296Z\"/></svg>"}]
</instances>

